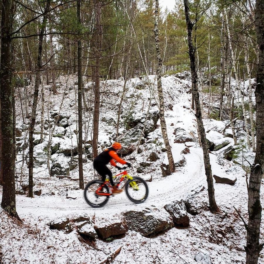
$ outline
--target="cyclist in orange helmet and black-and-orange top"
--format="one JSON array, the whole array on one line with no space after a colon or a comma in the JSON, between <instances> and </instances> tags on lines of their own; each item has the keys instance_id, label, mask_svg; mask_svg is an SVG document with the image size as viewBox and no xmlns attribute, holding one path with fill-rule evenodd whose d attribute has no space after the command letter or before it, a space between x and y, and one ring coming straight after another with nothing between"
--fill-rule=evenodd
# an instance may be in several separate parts
<instances>
[{"instance_id":1,"label":"cyclist in orange helmet and black-and-orange top","mask_svg":"<svg viewBox=\"0 0 264 264\"><path fill-rule=\"evenodd\" d=\"M111 182L111 185L113 186L113 192L112 192L113 194L119 194L123 192L123 190L119 190L115 186L112 178L112 172L111 170L109 170L108 167L106 167L106 164L110 162L112 166L120 170L121 167L117 166L116 163L114 162L114 160L116 160L121 164L126 164L128 165L128 167L131 167L131 164L129 162L126 162L125 160L119 158L117 153L121 148L122 148L121 144L119 142L115 142L110 148L104 150L94 159L94 169L99 173L99 175L102 176L102 180L105 181L106 175L109 176L109 180Z\"/></svg>"}]
</instances>

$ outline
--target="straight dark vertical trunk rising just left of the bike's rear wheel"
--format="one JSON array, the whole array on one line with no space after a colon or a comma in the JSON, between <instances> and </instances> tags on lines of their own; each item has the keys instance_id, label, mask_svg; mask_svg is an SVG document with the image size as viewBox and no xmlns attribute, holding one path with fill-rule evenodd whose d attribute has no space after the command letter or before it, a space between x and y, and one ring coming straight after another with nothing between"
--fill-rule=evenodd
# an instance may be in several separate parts
<instances>
[{"instance_id":1,"label":"straight dark vertical trunk rising just left of the bike's rear wheel","mask_svg":"<svg viewBox=\"0 0 264 264\"><path fill-rule=\"evenodd\" d=\"M81 27L81 0L77 0L77 19ZM82 168L82 43L78 38L78 163L79 163L79 188L84 189Z\"/></svg>"}]
</instances>

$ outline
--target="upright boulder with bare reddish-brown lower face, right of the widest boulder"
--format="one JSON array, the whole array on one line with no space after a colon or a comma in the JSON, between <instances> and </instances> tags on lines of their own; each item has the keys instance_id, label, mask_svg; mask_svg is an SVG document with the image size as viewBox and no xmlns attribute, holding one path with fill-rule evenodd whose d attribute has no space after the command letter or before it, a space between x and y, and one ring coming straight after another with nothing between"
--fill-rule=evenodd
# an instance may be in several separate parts
<instances>
[{"instance_id":1,"label":"upright boulder with bare reddish-brown lower face, right of the widest boulder","mask_svg":"<svg viewBox=\"0 0 264 264\"><path fill-rule=\"evenodd\" d=\"M190 224L189 216L187 215L187 209L184 200L175 201L170 204L166 204L164 209L172 216L175 226L187 227Z\"/></svg>"}]
</instances>

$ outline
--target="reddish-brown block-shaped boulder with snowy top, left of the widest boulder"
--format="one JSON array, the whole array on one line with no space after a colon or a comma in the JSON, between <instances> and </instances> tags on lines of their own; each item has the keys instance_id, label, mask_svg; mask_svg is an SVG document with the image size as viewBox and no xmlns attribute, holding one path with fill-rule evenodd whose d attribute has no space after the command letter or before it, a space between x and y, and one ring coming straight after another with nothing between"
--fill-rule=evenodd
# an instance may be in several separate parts
<instances>
[{"instance_id":1,"label":"reddish-brown block-shaped boulder with snowy top, left of the widest boulder","mask_svg":"<svg viewBox=\"0 0 264 264\"><path fill-rule=\"evenodd\" d=\"M126 219L109 219L94 226L94 230L101 239L123 235L128 230Z\"/></svg>"}]
</instances>

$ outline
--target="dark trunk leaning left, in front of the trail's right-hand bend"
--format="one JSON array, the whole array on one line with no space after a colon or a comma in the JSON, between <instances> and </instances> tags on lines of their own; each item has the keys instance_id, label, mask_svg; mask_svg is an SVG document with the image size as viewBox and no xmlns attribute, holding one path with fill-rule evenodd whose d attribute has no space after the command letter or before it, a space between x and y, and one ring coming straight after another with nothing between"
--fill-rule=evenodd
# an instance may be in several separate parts
<instances>
[{"instance_id":1,"label":"dark trunk leaning left, in front of the trail's right-hand bend","mask_svg":"<svg viewBox=\"0 0 264 264\"><path fill-rule=\"evenodd\" d=\"M187 32L188 32L188 48L189 48L189 58L190 58L190 67L191 67L191 74L192 74L192 93L194 96L195 101L195 109L196 109L196 119L197 124L199 127L199 132L201 135L202 141L202 148L204 153L204 167L205 167L205 174L207 177L207 185L208 185L208 197L209 197L209 205L211 212L215 213L218 208L214 198L214 183L210 165L210 158L208 153L208 145L206 141L204 125L202 120L202 112L200 107L200 100L199 100L199 92L198 92L198 78L197 78L197 71L195 65L195 51L192 43L192 28L193 24L189 18L189 1L184 0L184 7L185 7L185 19L187 25Z\"/></svg>"}]
</instances>

